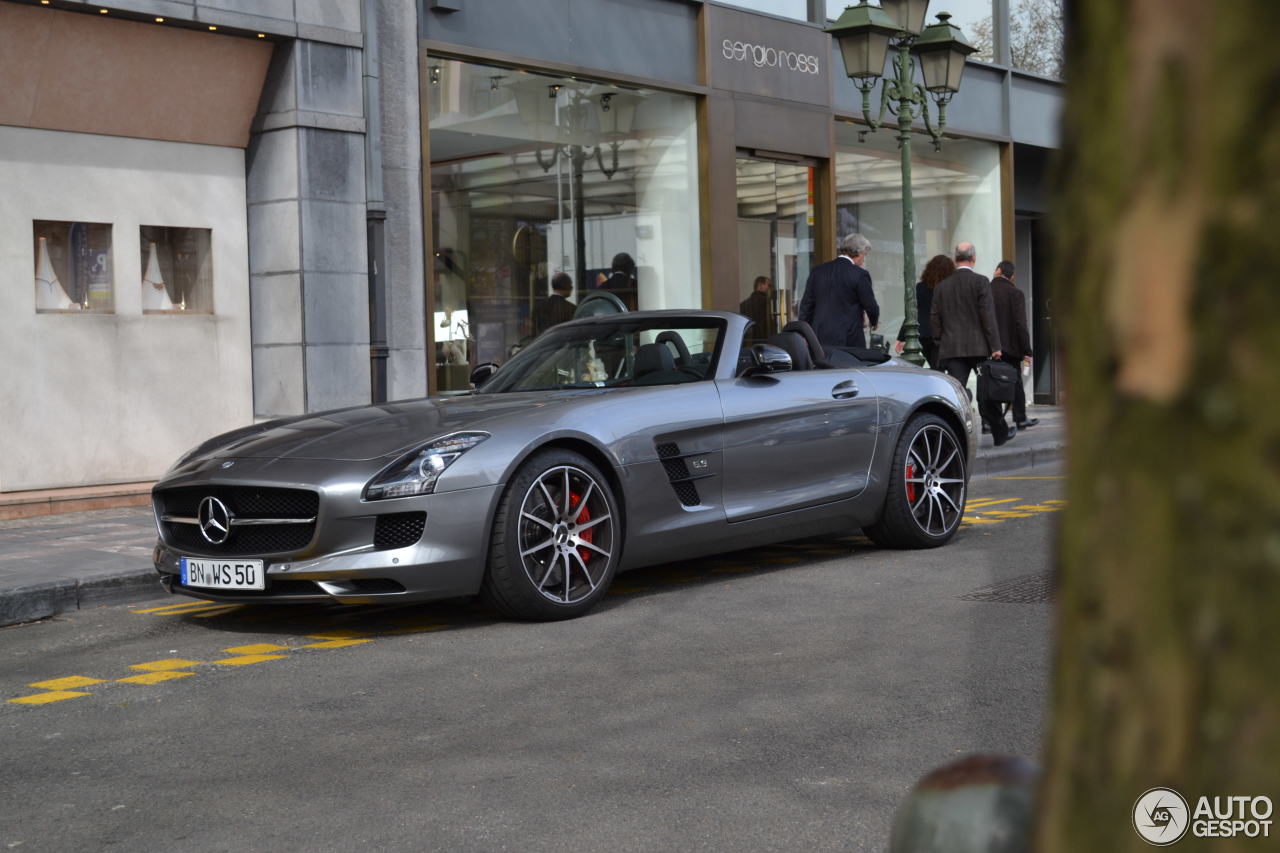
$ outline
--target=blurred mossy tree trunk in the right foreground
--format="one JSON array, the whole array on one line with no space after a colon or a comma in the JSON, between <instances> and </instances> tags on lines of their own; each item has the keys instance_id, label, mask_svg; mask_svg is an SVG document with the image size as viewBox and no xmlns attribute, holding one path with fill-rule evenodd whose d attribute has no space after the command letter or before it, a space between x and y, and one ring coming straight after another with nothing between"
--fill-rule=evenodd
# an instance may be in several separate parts
<instances>
[{"instance_id":1,"label":"blurred mossy tree trunk in the right foreground","mask_svg":"<svg viewBox=\"0 0 1280 853\"><path fill-rule=\"evenodd\" d=\"M1055 211L1069 507L1037 849L1280 800L1280 17L1076 0ZM1185 818L1190 818L1187 815ZM1197 838L1179 853L1272 849Z\"/></svg>"}]
</instances>

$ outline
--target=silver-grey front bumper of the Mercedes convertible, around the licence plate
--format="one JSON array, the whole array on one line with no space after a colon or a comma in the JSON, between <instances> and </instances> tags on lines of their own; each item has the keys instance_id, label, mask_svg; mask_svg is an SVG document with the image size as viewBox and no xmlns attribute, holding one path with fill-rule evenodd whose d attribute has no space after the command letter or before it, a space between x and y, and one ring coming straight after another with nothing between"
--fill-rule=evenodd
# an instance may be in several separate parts
<instances>
[{"instance_id":1,"label":"silver-grey front bumper of the Mercedes convertible, around the licence plate","mask_svg":"<svg viewBox=\"0 0 1280 853\"><path fill-rule=\"evenodd\" d=\"M169 592L219 602L372 605L474 596L484 579L493 512L500 493L502 485L492 485L339 505L328 505L321 497L316 535L306 549L225 557L229 561L262 560L266 574L264 590L182 585L182 557L220 557L193 553L164 538L156 543L155 567ZM378 515L416 511L426 512L422 537L416 544L401 548L378 548L374 544ZM342 535L332 537L330 530L340 530ZM369 535L352 535L356 530L367 530Z\"/></svg>"}]
</instances>

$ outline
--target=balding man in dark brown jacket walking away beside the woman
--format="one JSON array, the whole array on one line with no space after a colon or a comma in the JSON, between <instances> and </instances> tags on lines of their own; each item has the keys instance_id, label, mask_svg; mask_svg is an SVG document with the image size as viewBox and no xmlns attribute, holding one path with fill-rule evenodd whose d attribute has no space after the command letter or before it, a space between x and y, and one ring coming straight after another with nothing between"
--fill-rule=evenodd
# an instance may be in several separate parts
<instances>
[{"instance_id":1,"label":"balding man in dark brown jacket walking away beside the woman","mask_svg":"<svg viewBox=\"0 0 1280 853\"><path fill-rule=\"evenodd\" d=\"M963 386L969 373L986 359L998 359L1000 329L991 301L991 282L973 272L977 252L973 243L956 246L956 272L947 275L933 291L933 337L938 342L942 369ZM1000 447L1018 432L1005 423L1000 403L978 401L978 414L991 426L991 437Z\"/></svg>"}]
</instances>

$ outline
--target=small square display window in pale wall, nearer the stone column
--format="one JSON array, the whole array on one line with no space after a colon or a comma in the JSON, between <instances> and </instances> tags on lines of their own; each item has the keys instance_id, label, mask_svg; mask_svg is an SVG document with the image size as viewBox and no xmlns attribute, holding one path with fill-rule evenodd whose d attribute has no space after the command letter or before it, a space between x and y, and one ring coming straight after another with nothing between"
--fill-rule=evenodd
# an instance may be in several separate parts
<instances>
[{"instance_id":1,"label":"small square display window in pale wall, nearer the stone column","mask_svg":"<svg viewBox=\"0 0 1280 853\"><path fill-rule=\"evenodd\" d=\"M212 314L212 231L142 225L143 314Z\"/></svg>"}]
</instances>

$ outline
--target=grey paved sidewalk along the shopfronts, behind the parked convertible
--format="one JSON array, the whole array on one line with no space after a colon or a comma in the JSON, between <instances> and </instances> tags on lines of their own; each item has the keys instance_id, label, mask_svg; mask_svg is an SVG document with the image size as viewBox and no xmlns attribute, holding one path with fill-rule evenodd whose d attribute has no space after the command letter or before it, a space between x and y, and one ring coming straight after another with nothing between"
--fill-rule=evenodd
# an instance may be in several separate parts
<instances>
[{"instance_id":1,"label":"grey paved sidewalk along the shopfronts, behind the parked convertible","mask_svg":"<svg viewBox=\"0 0 1280 853\"><path fill-rule=\"evenodd\" d=\"M1061 461L1062 410L1032 406L1028 414L1039 424L1004 447L982 435L974 476ZM0 520L0 625L165 594L151 567L155 543L150 505Z\"/></svg>"}]
</instances>

